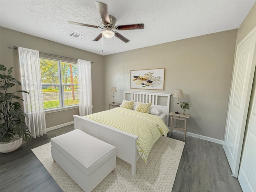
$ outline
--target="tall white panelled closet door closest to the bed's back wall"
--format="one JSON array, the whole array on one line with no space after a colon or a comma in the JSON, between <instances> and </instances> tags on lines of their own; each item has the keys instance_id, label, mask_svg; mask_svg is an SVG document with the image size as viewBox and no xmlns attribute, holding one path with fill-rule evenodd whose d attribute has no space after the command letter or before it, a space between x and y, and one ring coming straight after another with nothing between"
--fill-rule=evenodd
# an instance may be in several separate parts
<instances>
[{"instance_id":1,"label":"tall white panelled closet door closest to the bed's back wall","mask_svg":"<svg viewBox=\"0 0 256 192\"><path fill-rule=\"evenodd\" d=\"M224 151L233 176L237 178L244 139L244 130L252 90L255 63L252 62L256 46L256 32L248 34L238 44L232 76L228 106Z\"/></svg>"}]
</instances>

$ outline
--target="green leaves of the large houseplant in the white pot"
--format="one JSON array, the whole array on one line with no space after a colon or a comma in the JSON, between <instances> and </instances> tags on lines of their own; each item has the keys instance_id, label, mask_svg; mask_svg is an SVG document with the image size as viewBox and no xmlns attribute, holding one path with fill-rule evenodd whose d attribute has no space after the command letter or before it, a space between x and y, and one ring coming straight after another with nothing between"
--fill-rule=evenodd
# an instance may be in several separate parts
<instances>
[{"instance_id":1,"label":"green leaves of the large houseplant in the white pot","mask_svg":"<svg viewBox=\"0 0 256 192\"><path fill-rule=\"evenodd\" d=\"M15 95L15 93L29 93L24 90L16 91L14 93L10 92L9 88L15 86L15 84L21 85L21 83L16 78L12 77L12 67L7 71L7 74L6 70L4 65L0 65L0 142L11 142L14 136L18 136L23 140L28 141L31 138L31 133L28 126L25 124L27 115L21 109L20 103L17 102L22 99Z\"/></svg>"}]
</instances>

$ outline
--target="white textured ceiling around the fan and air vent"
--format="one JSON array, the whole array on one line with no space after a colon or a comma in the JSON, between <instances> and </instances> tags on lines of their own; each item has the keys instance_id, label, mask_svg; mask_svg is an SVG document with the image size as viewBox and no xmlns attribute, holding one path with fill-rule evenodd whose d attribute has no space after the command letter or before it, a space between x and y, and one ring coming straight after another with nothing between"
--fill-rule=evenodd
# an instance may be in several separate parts
<instances>
[{"instance_id":1,"label":"white textured ceiling around the fan and air vent","mask_svg":"<svg viewBox=\"0 0 256 192\"><path fill-rule=\"evenodd\" d=\"M0 26L100 55L124 52L175 40L238 28L255 0L171 1L102 0L116 25L144 23L140 30L122 30L130 40L92 41L101 29L95 0L0 0ZM69 36L75 32L84 38ZM16 45L19 46L19 45ZM115 52L114 52L115 49Z\"/></svg>"}]
</instances>

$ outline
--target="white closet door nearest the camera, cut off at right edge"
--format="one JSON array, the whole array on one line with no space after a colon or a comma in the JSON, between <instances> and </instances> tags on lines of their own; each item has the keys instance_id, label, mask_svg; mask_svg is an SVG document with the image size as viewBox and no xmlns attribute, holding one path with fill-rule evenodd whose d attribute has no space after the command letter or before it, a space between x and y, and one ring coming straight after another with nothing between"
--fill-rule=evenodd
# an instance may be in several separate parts
<instances>
[{"instance_id":1,"label":"white closet door nearest the camera, cut off at right edge","mask_svg":"<svg viewBox=\"0 0 256 192\"><path fill-rule=\"evenodd\" d=\"M244 192L256 192L256 82L254 82L252 109L249 114L248 130L238 174L238 181Z\"/></svg>"}]
</instances>

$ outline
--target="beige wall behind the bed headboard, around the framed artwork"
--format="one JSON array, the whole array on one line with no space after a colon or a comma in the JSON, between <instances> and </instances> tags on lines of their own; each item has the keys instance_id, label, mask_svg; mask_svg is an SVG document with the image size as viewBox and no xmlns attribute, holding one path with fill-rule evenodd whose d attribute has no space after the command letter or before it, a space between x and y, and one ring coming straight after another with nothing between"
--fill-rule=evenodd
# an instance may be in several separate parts
<instances>
[{"instance_id":1,"label":"beige wall behind the bed headboard, around the framed artwork","mask_svg":"<svg viewBox=\"0 0 256 192\"><path fill-rule=\"evenodd\" d=\"M122 102L122 91L131 90L130 70L165 68L163 91L134 91L182 89L180 102L191 104L188 132L223 140L236 35L237 29L105 56L105 103L112 101L112 86L116 102ZM172 111L176 102L171 99Z\"/></svg>"}]
</instances>

